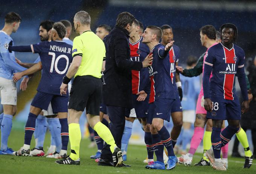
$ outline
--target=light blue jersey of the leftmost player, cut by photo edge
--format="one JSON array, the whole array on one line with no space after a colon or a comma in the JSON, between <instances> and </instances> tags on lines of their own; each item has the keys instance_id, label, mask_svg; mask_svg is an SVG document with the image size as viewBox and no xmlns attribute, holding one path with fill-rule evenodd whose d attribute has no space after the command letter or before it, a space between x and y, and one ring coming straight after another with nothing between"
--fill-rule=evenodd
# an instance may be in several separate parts
<instances>
[{"instance_id":1,"label":"light blue jersey of the leftmost player, cut by photo edge","mask_svg":"<svg viewBox=\"0 0 256 174\"><path fill-rule=\"evenodd\" d=\"M0 77L12 80L13 73L17 71L24 71L26 68L21 67L15 61L14 51L9 53L9 43L12 38L4 31L0 31Z\"/></svg>"}]
</instances>

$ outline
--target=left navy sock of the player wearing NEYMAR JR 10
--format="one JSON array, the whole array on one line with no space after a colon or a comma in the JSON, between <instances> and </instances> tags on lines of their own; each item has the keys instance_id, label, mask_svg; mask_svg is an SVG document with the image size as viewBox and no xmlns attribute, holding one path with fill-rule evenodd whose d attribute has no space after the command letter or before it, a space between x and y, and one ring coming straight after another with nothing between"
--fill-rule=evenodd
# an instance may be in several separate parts
<instances>
[{"instance_id":1,"label":"left navy sock of the player wearing NEYMAR JR 10","mask_svg":"<svg viewBox=\"0 0 256 174\"><path fill-rule=\"evenodd\" d=\"M30 145L32 135L35 131L35 121L36 120L37 120L37 115L29 112L29 117L27 117L27 123L25 126L24 144Z\"/></svg>"}]
</instances>

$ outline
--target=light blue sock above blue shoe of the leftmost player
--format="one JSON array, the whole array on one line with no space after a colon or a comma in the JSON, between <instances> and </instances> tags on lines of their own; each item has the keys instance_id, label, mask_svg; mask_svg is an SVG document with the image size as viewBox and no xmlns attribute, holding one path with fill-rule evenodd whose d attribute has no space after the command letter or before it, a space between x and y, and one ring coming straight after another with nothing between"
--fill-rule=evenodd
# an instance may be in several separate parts
<instances>
[{"instance_id":1,"label":"light blue sock above blue shoe of the leftmost player","mask_svg":"<svg viewBox=\"0 0 256 174\"><path fill-rule=\"evenodd\" d=\"M8 138L12 130L12 115L4 114L1 123L1 150L7 150Z\"/></svg>"}]
</instances>

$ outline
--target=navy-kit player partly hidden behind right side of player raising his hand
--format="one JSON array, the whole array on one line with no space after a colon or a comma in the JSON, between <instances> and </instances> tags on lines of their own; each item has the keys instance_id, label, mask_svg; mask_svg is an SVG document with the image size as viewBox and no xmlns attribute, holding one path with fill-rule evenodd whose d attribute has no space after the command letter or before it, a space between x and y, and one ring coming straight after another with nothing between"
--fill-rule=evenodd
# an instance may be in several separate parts
<instances>
[{"instance_id":1,"label":"navy-kit player partly hidden behind right side of player raising his hand","mask_svg":"<svg viewBox=\"0 0 256 174\"><path fill-rule=\"evenodd\" d=\"M173 41L173 31L172 27L169 25L163 25L161 27L163 36L162 36L162 45L166 45L169 42ZM182 106L181 106L181 100L182 100L182 88L181 88L181 82L180 82L180 74L176 73L175 66L178 66L178 61L180 57L180 48L177 45L173 45L171 49L169 50L169 59L170 59L170 65L171 65L171 78L172 78L172 84L174 85L175 90L175 97L176 100L174 101L174 104L172 105L171 110L171 117L172 122L174 124L172 131L171 131L171 139L172 139L172 146L174 147L178 136L180 135L181 127L182 127Z\"/></svg>"}]
</instances>

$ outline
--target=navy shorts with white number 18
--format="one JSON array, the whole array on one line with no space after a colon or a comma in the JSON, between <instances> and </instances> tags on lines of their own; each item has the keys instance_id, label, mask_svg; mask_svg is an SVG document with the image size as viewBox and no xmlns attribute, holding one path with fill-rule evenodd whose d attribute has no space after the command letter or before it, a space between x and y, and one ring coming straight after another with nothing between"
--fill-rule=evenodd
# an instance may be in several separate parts
<instances>
[{"instance_id":1,"label":"navy shorts with white number 18","mask_svg":"<svg viewBox=\"0 0 256 174\"><path fill-rule=\"evenodd\" d=\"M241 106L238 97L226 100L220 97L210 97L213 102L212 112L207 111L206 118L212 120L241 120Z\"/></svg>"}]
</instances>

